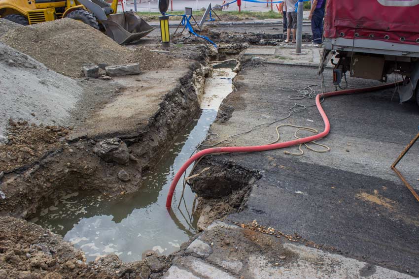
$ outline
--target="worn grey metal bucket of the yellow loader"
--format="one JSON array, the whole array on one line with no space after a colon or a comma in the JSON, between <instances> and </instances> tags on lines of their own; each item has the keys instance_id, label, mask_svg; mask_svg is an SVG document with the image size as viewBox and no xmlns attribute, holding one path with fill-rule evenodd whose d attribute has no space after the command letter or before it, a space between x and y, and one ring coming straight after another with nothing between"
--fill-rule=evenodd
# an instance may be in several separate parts
<instances>
[{"instance_id":1,"label":"worn grey metal bucket of the yellow loader","mask_svg":"<svg viewBox=\"0 0 419 279\"><path fill-rule=\"evenodd\" d=\"M118 44L136 41L154 30L134 12L111 14L101 22L106 29L106 35Z\"/></svg>"}]
</instances>

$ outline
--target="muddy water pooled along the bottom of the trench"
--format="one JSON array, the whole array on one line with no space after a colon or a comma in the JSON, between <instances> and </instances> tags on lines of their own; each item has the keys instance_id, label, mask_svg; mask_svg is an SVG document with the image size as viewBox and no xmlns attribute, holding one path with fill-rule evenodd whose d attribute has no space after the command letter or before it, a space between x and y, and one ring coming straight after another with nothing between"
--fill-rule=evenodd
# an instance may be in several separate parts
<instances>
[{"instance_id":1,"label":"muddy water pooled along the bottom of the trench","mask_svg":"<svg viewBox=\"0 0 419 279\"><path fill-rule=\"evenodd\" d=\"M206 80L199 119L177 136L156 168L144 177L139 191L112 199L86 192L69 193L45 205L32 221L81 248L88 261L115 253L129 262L140 260L147 249L162 254L179 249L197 232L198 217L192 214L195 194L187 186L177 209L180 182L170 215L165 207L166 195L175 173L205 138L222 99L232 91L234 66L231 62L214 66L212 77Z\"/></svg>"}]
</instances>

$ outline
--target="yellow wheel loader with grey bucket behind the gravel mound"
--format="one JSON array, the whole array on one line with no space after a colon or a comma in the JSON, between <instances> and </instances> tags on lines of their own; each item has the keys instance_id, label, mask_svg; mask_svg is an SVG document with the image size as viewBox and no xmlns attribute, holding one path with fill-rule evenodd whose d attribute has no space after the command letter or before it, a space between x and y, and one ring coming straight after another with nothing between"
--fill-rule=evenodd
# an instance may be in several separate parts
<instances>
[{"instance_id":1,"label":"yellow wheel loader with grey bucket behind the gravel mound","mask_svg":"<svg viewBox=\"0 0 419 279\"><path fill-rule=\"evenodd\" d=\"M116 13L118 0L0 0L0 18L31 25L72 18L104 31L119 44L126 44L153 31L134 12Z\"/></svg>"}]
</instances>

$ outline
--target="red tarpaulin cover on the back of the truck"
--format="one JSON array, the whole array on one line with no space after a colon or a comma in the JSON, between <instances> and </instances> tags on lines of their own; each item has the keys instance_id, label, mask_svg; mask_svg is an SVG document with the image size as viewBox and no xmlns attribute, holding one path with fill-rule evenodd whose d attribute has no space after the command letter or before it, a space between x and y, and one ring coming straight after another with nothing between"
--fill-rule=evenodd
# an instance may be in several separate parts
<instances>
[{"instance_id":1,"label":"red tarpaulin cover on the back of the truck","mask_svg":"<svg viewBox=\"0 0 419 279\"><path fill-rule=\"evenodd\" d=\"M324 36L419 45L419 0L327 0Z\"/></svg>"}]
</instances>

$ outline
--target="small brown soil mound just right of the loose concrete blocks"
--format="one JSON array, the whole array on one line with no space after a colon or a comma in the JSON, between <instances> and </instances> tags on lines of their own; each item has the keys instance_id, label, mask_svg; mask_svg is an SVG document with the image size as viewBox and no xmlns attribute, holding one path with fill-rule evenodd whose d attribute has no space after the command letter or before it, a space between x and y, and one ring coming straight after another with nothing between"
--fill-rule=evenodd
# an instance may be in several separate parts
<instances>
[{"instance_id":1,"label":"small brown soil mound just right of the loose concrete blocks","mask_svg":"<svg viewBox=\"0 0 419 279\"><path fill-rule=\"evenodd\" d=\"M138 47L134 51L130 62L140 62L142 71L158 70L169 68L173 65L175 59L165 53L148 50L144 47Z\"/></svg>"}]
</instances>

